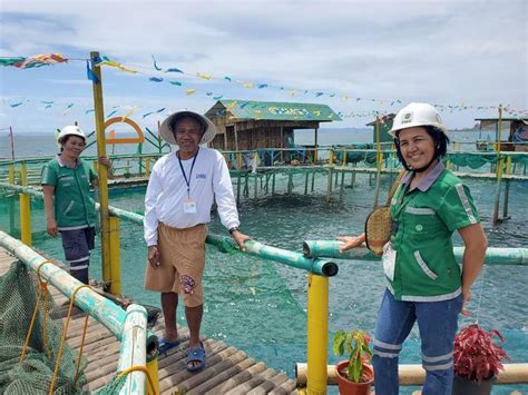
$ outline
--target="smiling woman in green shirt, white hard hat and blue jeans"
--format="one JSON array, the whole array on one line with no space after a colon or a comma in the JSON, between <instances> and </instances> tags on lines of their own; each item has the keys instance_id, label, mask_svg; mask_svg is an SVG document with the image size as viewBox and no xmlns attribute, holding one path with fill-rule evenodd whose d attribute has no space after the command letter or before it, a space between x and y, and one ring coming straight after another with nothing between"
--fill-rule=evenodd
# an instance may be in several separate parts
<instances>
[{"instance_id":1,"label":"smiling woman in green shirt, white hard hat and blue jeans","mask_svg":"<svg viewBox=\"0 0 528 395\"><path fill-rule=\"evenodd\" d=\"M392 234L383 248L387 289L378 316L372 364L377 394L398 394L398 358L418 322L423 394L451 394L458 314L483 264L488 245L469 189L441 161L449 137L437 110L411 102L394 118L398 158L409 174L391 200ZM462 269L454 260L452 234L465 244ZM339 237L341 250L365 235Z\"/></svg>"}]
</instances>

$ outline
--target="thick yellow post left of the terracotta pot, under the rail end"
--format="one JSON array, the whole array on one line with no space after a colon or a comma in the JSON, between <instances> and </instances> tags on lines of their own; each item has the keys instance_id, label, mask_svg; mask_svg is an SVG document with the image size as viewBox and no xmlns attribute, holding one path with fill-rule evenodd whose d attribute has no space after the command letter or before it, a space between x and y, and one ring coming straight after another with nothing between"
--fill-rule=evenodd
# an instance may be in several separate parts
<instances>
[{"instance_id":1,"label":"thick yellow post left of the terracotta pot, under the rail end","mask_svg":"<svg viewBox=\"0 0 528 395\"><path fill-rule=\"evenodd\" d=\"M326 394L329 344L329 278L309 274L307 394Z\"/></svg>"}]
</instances>

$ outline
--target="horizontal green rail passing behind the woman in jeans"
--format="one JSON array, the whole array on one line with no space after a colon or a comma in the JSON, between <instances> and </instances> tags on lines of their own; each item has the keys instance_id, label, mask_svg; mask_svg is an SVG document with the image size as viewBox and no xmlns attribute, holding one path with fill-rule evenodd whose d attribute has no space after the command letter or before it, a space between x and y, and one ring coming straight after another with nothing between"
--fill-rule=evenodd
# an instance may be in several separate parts
<instances>
[{"instance_id":1,"label":"horizontal green rail passing behind the woman in jeans","mask_svg":"<svg viewBox=\"0 0 528 395\"><path fill-rule=\"evenodd\" d=\"M340 254L339 247L343 243L338 240L306 240L303 243L303 254L305 257L329 257L355 260L378 260L366 247L358 247ZM462 263L463 247L454 247L457 261ZM486 250L485 264L488 265L527 265L528 248L493 248Z\"/></svg>"}]
</instances>

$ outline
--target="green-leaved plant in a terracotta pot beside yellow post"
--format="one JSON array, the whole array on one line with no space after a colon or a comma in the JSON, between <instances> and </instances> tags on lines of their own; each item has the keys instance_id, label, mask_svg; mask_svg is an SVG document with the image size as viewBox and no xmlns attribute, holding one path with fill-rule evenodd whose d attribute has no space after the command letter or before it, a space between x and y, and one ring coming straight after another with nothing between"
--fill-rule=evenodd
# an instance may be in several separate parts
<instances>
[{"instance_id":1,"label":"green-leaved plant in a terracotta pot beside yellow post","mask_svg":"<svg viewBox=\"0 0 528 395\"><path fill-rule=\"evenodd\" d=\"M370 366L372 353L370 337L360 329L339 330L334 336L335 355L346 355L348 359L335 365L340 394L370 394L374 382L374 371Z\"/></svg>"}]
</instances>

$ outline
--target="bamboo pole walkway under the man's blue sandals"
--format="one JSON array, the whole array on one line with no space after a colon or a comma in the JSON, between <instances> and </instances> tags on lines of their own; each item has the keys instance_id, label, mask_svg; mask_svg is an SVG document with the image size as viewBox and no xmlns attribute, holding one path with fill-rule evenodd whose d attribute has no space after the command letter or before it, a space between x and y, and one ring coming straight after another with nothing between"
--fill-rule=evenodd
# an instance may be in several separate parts
<instances>
[{"instance_id":1,"label":"bamboo pole walkway under the man's blue sandals","mask_svg":"<svg viewBox=\"0 0 528 395\"><path fill-rule=\"evenodd\" d=\"M0 247L0 276L3 276L16 258ZM50 286L50 294L57 306L68 299L58 289ZM61 306L66 315L68 306ZM57 318L62 319L63 317ZM74 349L81 345L85 314L76 309L68 328L68 344ZM163 318L158 318L153 332L162 337ZM180 336L188 335L186 328L179 328ZM268 368L264 363L254 361L244 352L224 343L204 337L207 353L207 367L199 373L189 373L185 368L185 348L188 342L159 356L159 389L162 394L297 394L296 382L284 373ZM119 359L119 342L95 319L88 320L84 355L88 361L85 374L88 381L86 391L94 392L108 384L116 373Z\"/></svg>"}]
</instances>

